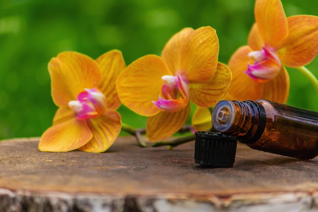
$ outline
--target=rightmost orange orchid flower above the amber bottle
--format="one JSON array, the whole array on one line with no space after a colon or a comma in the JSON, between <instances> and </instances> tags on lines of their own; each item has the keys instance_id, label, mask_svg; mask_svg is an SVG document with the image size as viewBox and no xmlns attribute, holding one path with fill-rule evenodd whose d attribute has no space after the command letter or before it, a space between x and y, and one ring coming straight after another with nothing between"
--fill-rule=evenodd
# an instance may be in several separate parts
<instances>
[{"instance_id":1,"label":"rightmost orange orchid flower above the amber bottle","mask_svg":"<svg viewBox=\"0 0 318 212\"><path fill-rule=\"evenodd\" d=\"M233 81L226 99L287 102L290 81L284 66L304 72L317 89L315 77L303 66L318 52L318 17L287 18L280 0L257 0L255 19L248 45L230 58Z\"/></svg>"}]
</instances>

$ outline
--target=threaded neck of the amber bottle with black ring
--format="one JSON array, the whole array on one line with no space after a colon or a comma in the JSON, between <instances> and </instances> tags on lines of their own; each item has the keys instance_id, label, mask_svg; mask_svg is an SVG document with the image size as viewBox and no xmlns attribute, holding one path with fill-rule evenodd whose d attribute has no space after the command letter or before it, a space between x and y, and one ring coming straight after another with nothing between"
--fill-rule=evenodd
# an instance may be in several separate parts
<instances>
[{"instance_id":1,"label":"threaded neck of the amber bottle with black ring","mask_svg":"<svg viewBox=\"0 0 318 212\"><path fill-rule=\"evenodd\" d=\"M266 112L255 101L220 101L213 109L212 122L217 131L235 135L242 143L254 143L265 129Z\"/></svg>"}]
</instances>

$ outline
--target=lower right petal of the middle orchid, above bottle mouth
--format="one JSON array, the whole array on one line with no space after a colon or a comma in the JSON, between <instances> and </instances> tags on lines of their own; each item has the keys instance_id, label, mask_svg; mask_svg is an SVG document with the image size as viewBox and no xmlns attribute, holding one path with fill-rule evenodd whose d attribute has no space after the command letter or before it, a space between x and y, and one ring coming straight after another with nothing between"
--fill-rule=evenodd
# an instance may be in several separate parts
<instances>
[{"instance_id":1,"label":"lower right petal of the middle orchid, above bottle mouth","mask_svg":"<svg viewBox=\"0 0 318 212\"><path fill-rule=\"evenodd\" d=\"M226 94L231 83L230 69L218 63L214 77L208 82L188 84L190 100L201 107L211 107Z\"/></svg>"}]
</instances>

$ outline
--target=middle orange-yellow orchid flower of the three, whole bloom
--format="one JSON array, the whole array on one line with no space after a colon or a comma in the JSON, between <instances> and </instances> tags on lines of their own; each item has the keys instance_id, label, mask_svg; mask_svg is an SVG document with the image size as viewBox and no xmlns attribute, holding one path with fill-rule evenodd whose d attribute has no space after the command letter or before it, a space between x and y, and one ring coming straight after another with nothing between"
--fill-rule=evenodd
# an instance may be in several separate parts
<instances>
[{"instance_id":1,"label":"middle orange-yellow orchid flower of the three, whole bloom","mask_svg":"<svg viewBox=\"0 0 318 212\"><path fill-rule=\"evenodd\" d=\"M162 56L146 55L121 72L116 81L123 105L148 116L151 141L166 139L186 122L191 100L211 107L221 100L231 71L218 63L218 38L210 26L184 28L163 49Z\"/></svg>"}]
</instances>

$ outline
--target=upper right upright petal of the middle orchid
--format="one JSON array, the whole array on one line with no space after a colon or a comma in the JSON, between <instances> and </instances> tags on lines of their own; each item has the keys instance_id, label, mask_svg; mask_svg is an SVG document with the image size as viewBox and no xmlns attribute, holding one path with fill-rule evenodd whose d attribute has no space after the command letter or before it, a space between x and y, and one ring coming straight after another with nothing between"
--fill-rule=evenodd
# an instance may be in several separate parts
<instances>
[{"instance_id":1,"label":"upper right upright petal of the middle orchid","mask_svg":"<svg viewBox=\"0 0 318 212\"><path fill-rule=\"evenodd\" d=\"M187 37L184 45L184 51L180 55L180 75L187 82L211 80L215 74L219 51L215 29L210 26L196 29Z\"/></svg>"}]
</instances>

